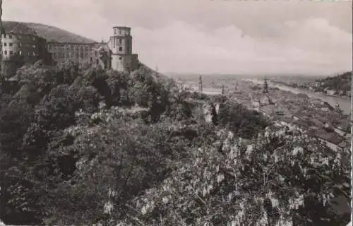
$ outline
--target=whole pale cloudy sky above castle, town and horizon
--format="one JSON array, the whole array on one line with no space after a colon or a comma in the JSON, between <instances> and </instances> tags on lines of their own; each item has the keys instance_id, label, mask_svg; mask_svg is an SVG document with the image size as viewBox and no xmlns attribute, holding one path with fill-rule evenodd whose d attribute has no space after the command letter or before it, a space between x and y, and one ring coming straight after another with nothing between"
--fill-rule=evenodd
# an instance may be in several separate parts
<instances>
[{"instance_id":1,"label":"whole pale cloudy sky above castle, town and horizon","mask_svg":"<svg viewBox=\"0 0 353 226\"><path fill-rule=\"evenodd\" d=\"M133 52L160 72L322 74L352 70L352 1L4 0L3 20L93 40L131 27Z\"/></svg>"}]
</instances>

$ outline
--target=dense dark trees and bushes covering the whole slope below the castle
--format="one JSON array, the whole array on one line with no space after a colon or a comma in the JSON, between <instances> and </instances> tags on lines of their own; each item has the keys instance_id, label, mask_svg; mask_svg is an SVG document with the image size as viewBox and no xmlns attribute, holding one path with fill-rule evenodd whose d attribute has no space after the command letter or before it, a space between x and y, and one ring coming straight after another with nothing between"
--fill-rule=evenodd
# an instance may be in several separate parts
<instances>
[{"instance_id":1,"label":"dense dark trees and bushes covering the whole slope below the castle","mask_svg":"<svg viewBox=\"0 0 353 226\"><path fill-rule=\"evenodd\" d=\"M179 93L145 67L128 74L37 62L3 80L0 98L7 224L349 220L330 208L336 197L350 200L349 150L335 155L225 97Z\"/></svg>"}]
</instances>

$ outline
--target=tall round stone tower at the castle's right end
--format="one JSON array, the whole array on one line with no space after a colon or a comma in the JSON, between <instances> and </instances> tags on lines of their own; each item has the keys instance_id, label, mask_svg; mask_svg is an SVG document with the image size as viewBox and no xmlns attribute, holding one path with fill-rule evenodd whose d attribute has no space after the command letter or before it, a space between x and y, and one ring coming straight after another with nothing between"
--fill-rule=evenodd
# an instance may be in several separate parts
<instances>
[{"instance_id":1,"label":"tall round stone tower at the castle's right end","mask_svg":"<svg viewBox=\"0 0 353 226\"><path fill-rule=\"evenodd\" d=\"M137 54L132 54L131 28L113 27L114 35L110 37L109 47L112 50L112 69L116 71L133 71L137 67Z\"/></svg>"}]
</instances>

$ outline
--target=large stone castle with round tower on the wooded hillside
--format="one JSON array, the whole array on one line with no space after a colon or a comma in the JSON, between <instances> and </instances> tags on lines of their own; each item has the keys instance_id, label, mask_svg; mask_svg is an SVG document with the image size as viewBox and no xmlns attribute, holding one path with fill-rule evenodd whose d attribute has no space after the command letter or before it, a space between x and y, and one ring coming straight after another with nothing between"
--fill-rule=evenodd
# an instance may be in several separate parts
<instances>
[{"instance_id":1,"label":"large stone castle with round tower on the wooded hillside","mask_svg":"<svg viewBox=\"0 0 353 226\"><path fill-rule=\"evenodd\" d=\"M35 30L16 23L2 29L1 44L4 65L1 68L8 70L7 73L40 59L54 63L71 60L79 65L128 72L138 67L138 55L132 53L131 28L128 27L113 27L108 42L58 42L45 40Z\"/></svg>"}]
</instances>

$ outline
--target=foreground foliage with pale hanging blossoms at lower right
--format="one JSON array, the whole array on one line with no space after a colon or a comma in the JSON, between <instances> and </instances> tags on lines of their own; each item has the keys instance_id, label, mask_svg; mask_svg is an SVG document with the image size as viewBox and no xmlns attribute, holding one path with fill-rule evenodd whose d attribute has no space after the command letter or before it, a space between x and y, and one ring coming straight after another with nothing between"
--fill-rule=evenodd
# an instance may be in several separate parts
<instances>
[{"instance_id":1,"label":"foreground foliage with pale hanging blossoms at lower right","mask_svg":"<svg viewBox=\"0 0 353 226\"><path fill-rule=\"evenodd\" d=\"M159 186L129 203L121 225L345 225L330 209L349 203L349 162L295 131L265 131L244 145L232 135L222 153L195 148ZM292 159L292 160L291 160ZM340 175L340 176L338 176ZM344 191L337 192L335 184Z\"/></svg>"}]
</instances>

